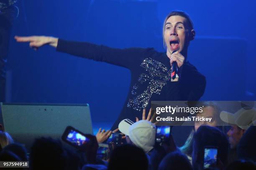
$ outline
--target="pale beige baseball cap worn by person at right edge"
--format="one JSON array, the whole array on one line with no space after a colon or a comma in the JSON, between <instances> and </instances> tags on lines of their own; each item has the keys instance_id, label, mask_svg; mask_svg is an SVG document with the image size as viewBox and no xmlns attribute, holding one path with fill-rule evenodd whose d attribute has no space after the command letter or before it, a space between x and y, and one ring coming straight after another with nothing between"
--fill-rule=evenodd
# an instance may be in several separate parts
<instances>
[{"instance_id":1,"label":"pale beige baseball cap worn by person at right edge","mask_svg":"<svg viewBox=\"0 0 256 170\"><path fill-rule=\"evenodd\" d=\"M226 111L220 112L220 119L223 122L237 125L239 128L248 129L251 125L256 125L256 110L241 108L234 114Z\"/></svg>"}]
</instances>

